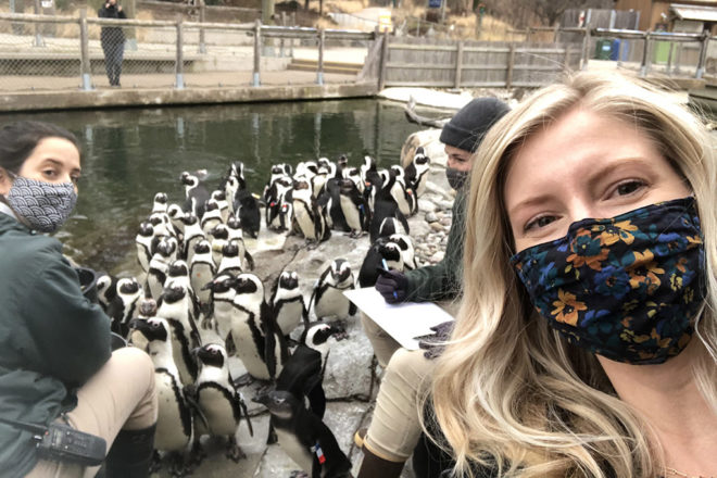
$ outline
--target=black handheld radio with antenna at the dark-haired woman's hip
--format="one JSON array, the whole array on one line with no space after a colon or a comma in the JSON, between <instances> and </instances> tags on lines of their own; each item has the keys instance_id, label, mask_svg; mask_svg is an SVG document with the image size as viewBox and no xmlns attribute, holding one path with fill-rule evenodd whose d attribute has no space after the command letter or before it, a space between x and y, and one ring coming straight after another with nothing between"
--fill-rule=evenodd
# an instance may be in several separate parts
<instances>
[{"instance_id":1,"label":"black handheld radio with antenna at the dark-haired woman's hip","mask_svg":"<svg viewBox=\"0 0 717 478\"><path fill-rule=\"evenodd\" d=\"M106 441L102 437L75 430L62 424L40 425L0 417L0 422L35 433L37 451L45 460L72 462L83 466L98 466L104 461Z\"/></svg>"}]
</instances>

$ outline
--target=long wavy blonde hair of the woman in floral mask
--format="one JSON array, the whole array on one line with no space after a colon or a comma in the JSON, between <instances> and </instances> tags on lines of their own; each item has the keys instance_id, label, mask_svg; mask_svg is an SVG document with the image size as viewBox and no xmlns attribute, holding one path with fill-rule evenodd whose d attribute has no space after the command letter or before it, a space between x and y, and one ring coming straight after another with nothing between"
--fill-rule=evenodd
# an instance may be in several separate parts
<instances>
[{"instance_id":1,"label":"long wavy blonde hair of the woman in floral mask","mask_svg":"<svg viewBox=\"0 0 717 478\"><path fill-rule=\"evenodd\" d=\"M474 466L520 477L663 471L647 426L616 397L594 355L568 344L537 315L508 264L514 250L503 206L506 165L527 138L578 104L646 134L696 197L708 297L696 327L707 353L694 374L717 413L713 138L695 115L656 88L614 73L580 73L519 104L493 126L474 156L464 295L432 386L436 418L458 474L473 476Z\"/></svg>"}]
</instances>

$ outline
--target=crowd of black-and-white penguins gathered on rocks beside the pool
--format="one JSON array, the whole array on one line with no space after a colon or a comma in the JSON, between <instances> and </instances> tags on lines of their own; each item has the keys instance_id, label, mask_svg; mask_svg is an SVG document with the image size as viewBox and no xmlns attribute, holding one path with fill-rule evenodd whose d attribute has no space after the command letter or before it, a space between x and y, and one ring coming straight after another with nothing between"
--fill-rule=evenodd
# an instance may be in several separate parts
<instances>
[{"instance_id":1,"label":"crowd of black-and-white penguins gathered on rocks beside the pool","mask_svg":"<svg viewBox=\"0 0 717 478\"><path fill-rule=\"evenodd\" d=\"M300 163L295 173L278 164L260 197L247 189L243 164L235 162L212 192L206 172L181 173L183 205L169 204L163 192L154 196L136 237L141 277L103 275L97 285L112 330L154 363L155 450L169 456L173 476L201 462L204 435L226 437L227 457L244 456L235 436L241 420L252 435L253 429L237 387L252 379L273 382L254 399L271 413L269 439L312 477L351 476L351 463L323 423L322 383L329 339L345 336L338 322L324 319L355 314L343 291L353 289L356 278L348 261L335 259L306 302L298 274L284 271L266 300L243 237L257 237L263 206L268 228L301 234L310 244L327 239L330 228L351 237L369 232L362 286L377 267L415 267L405 217L416 211L428 163L419 149L405 171L379 171L369 156L358 168L348 167L345 156ZM316 322L310 323L310 312ZM289 336L300 326L297 343ZM232 355L248 377L231 377ZM155 453L155 467L160 456Z\"/></svg>"}]
</instances>

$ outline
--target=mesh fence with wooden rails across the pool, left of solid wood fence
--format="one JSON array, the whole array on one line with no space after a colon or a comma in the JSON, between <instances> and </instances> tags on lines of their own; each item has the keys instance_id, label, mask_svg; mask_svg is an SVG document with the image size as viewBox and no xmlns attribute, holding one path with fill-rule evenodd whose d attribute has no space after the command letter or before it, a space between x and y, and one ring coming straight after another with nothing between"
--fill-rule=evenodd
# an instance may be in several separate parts
<instances>
[{"instance_id":1,"label":"mesh fence with wooden rails across the pool, left of solid wood fence","mask_svg":"<svg viewBox=\"0 0 717 478\"><path fill-rule=\"evenodd\" d=\"M108 54L115 50L109 41L103 45L103 28L120 30L125 38L123 88L353 81L375 38L372 33L265 26L259 21L238 25L108 20L87 17L81 11L78 17L0 14L0 88L111 87L108 66L113 62ZM331 64L332 59L347 58L357 59L358 66Z\"/></svg>"}]
</instances>

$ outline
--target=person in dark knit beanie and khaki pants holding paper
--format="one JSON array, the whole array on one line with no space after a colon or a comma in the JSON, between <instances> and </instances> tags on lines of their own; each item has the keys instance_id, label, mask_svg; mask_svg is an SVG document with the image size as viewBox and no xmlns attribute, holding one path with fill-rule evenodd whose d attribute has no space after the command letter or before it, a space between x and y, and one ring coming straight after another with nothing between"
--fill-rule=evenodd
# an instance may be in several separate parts
<instances>
[{"instance_id":1,"label":"person in dark knit beanie and khaki pants holding paper","mask_svg":"<svg viewBox=\"0 0 717 478\"><path fill-rule=\"evenodd\" d=\"M441 302L460 295L464 210L473 154L488 130L507 112L508 106L496 98L477 98L443 126L440 141L445 144L448 155L445 175L456 190L445 255L435 265L406 273L390 271L379 276L375 287L386 302ZM362 314L362 324L386 372L370 426L358 430L354 437L364 452L358 478L399 477L420 439L418 405L427 378L432 374L431 358L439 351L436 348L428 351L403 349L365 314ZM438 335L448 338L450 326L450 323L439 326Z\"/></svg>"}]
</instances>

